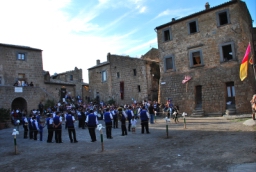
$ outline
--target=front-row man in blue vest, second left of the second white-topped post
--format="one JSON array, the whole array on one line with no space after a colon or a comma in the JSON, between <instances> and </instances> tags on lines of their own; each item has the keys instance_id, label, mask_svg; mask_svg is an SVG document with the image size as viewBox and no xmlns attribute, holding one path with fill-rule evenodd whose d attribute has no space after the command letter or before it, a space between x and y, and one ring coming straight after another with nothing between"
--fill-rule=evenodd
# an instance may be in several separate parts
<instances>
[{"instance_id":1,"label":"front-row man in blue vest, second left of the second white-topped post","mask_svg":"<svg viewBox=\"0 0 256 172\"><path fill-rule=\"evenodd\" d=\"M70 139L71 143L77 143L78 141L76 140L76 130L75 130L75 117L71 115L71 111L68 111L68 114L66 116L66 122L67 122L67 128L68 128L68 136ZM73 134L73 137L72 137Z\"/></svg>"}]
</instances>

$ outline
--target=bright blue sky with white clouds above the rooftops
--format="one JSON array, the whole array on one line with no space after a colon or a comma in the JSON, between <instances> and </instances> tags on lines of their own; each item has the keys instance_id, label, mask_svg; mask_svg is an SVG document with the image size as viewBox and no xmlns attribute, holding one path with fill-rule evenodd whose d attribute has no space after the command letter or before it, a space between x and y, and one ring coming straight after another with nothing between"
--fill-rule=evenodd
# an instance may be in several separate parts
<instances>
[{"instance_id":1,"label":"bright blue sky with white clouds above the rooftops","mask_svg":"<svg viewBox=\"0 0 256 172\"><path fill-rule=\"evenodd\" d=\"M43 50L43 69L83 70L107 54L140 58L158 48L155 28L229 0L0 0L0 43ZM256 0L246 2L256 27Z\"/></svg>"}]
</instances>

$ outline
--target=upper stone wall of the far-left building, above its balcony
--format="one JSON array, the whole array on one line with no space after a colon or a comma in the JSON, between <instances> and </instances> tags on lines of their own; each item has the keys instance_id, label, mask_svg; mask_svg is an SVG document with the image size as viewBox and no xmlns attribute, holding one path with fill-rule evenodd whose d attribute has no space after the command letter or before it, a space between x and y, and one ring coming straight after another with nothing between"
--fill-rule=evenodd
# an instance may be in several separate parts
<instances>
[{"instance_id":1,"label":"upper stone wall of the far-left building, above its balcony","mask_svg":"<svg viewBox=\"0 0 256 172\"><path fill-rule=\"evenodd\" d=\"M25 60L17 60L17 54L25 54ZM37 72L35 72L37 71ZM19 74L35 86L43 84L42 50L22 46L0 44L0 76L2 85L13 86Z\"/></svg>"}]
</instances>

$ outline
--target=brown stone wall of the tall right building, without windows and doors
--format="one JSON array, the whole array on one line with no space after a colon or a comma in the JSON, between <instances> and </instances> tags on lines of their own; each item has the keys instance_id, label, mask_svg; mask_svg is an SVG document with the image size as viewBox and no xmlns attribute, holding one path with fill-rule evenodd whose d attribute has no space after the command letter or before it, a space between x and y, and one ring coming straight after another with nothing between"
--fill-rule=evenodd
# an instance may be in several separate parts
<instances>
[{"instance_id":1,"label":"brown stone wall of the tall right building, without windows and doors","mask_svg":"<svg viewBox=\"0 0 256 172\"><path fill-rule=\"evenodd\" d=\"M230 24L216 26L216 12L229 10ZM199 32L188 34L188 22L196 19ZM181 111L191 114L195 109L195 88L202 86L202 109L205 114L220 113L226 110L226 83L234 82L236 112L250 113L250 99L254 94L255 80L253 70L249 67L248 77L242 82L239 68L251 37L252 21L244 2L220 5L205 13L193 14L170 22L157 31L160 60L160 96L161 102L171 98ZM170 28L172 40L163 42L163 29ZM236 60L220 62L220 45L233 42ZM203 66L190 67L189 51L200 49L203 55ZM175 57L175 70L165 71L164 57ZM182 84L185 75L192 79ZM187 87L187 89L186 89Z\"/></svg>"}]
</instances>

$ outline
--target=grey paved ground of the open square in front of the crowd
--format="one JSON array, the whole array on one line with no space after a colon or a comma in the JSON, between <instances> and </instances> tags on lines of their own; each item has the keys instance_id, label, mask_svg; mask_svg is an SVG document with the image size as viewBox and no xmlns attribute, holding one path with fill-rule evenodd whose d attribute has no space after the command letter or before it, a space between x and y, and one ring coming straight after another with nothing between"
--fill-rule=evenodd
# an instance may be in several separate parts
<instances>
[{"instance_id":1,"label":"grey paved ground of the open square in front of the crowd","mask_svg":"<svg viewBox=\"0 0 256 172\"><path fill-rule=\"evenodd\" d=\"M46 142L47 129L44 129L44 141L23 139L23 128L19 127L17 155L11 135L14 127L3 129L0 130L0 169L2 172L235 172L255 167L254 127L224 117L187 117L186 129L182 118L179 121L166 123L158 118L155 124L149 125L150 134L141 134L138 120L136 134L128 132L127 136L121 136L119 123L118 129L112 129L113 139L106 139L103 131L103 146L99 131L96 131L97 141L92 143L88 129L76 128L79 142L70 143L63 126L63 143L59 144ZM100 123L104 125L103 121Z\"/></svg>"}]
</instances>

